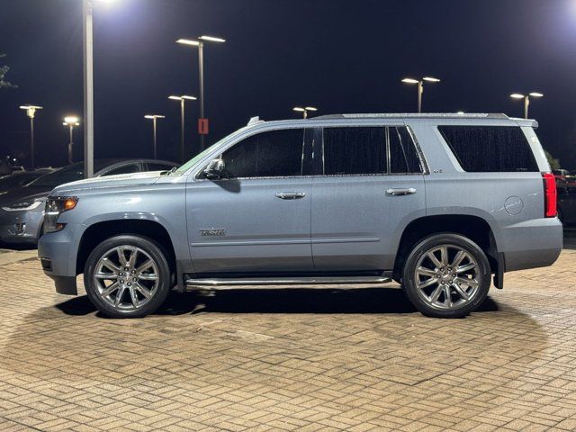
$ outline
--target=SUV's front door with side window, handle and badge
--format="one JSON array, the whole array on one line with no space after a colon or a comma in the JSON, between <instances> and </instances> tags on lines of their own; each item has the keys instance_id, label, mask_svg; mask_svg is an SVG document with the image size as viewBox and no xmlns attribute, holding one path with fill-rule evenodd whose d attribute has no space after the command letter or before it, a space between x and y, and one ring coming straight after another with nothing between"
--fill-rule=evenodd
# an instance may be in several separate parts
<instances>
[{"instance_id":1,"label":"SUV's front door with side window, handle and badge","mask_svg":"<svg viewBox=\"0 0 576 432\"><path fill-rule=\"evenodd\" d=\"M223 152L224 178L186 189L197 274L310 272L311 176L305 131L268 130Z\"/></svg>"}]
</instances>

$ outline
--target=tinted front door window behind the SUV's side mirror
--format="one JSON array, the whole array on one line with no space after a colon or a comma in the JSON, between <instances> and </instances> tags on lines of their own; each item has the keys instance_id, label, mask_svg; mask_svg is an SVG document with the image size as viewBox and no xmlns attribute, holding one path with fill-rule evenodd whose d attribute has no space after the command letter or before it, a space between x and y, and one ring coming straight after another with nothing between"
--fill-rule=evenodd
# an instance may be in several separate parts
<instances>
[{"instance_id":1,"label":"tinted front door window behind the SUV's side mirror","mask_svg":"<svg viewBox=\"0 0 576 432\"><path fill-rule=\"evenodd\" d=\"M301 175L304 130L270 130L244 139L222 154L226 174L238 177Z\"/></svg>"}]
</instances>

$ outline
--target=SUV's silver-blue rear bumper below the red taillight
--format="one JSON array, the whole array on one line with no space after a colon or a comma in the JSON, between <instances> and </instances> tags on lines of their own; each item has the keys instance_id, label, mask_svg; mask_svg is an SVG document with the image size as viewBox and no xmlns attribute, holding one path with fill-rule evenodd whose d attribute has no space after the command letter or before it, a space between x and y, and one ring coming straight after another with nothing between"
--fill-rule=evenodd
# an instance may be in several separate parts
<instances>
[{"instance_id":1,"label":"SUV's silver-blue rear bumper below the red taillight","mask_svg":"<svg viewBox=\"0 0 576 432\"><path fill-rule=\"evenodd\" d=\"M562 252L563 229L558 218L525 220L500 228L498 246L506 272L552 266Z\"/></svg>"}]
</instances>

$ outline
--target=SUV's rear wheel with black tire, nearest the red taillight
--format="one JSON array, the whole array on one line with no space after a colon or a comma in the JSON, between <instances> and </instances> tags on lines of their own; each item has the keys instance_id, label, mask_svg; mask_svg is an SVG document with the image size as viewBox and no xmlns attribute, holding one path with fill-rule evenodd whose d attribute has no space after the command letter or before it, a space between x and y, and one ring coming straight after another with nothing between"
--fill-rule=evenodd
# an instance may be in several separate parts
<instances>
[{"instance_id":1,"label":"SUV's rear wheel with black tire, nearest the red taillight","mask_svg":"<svg viewBox=\"0 0 576 432\"><path fill-rule=\"evenodd\" d=\"M448 265L445 266L440 258L437 259L440 261L437 264L441 266L437 266L435 261L429 258L428 252L433 251L432 255L437 258L442 257L445 253L444 246L446 246L445 262ZM454 269L450 263L455 263L456 254L460 250L464 253L458 257L464 256L463 262L468 264L459 266L460 263L458 263L457 269ZM462 270L474 264L476 266L470 270ZM432 268L432 266L435 267ZM421 271L417 275L419 268ZM435 275L423 275L423 272L428 270ZM461 271L464 273L458 273ZM422 277L426 279L421 279ZM486 300L491 286L491 267L482 248L470 238L454 233L440 233L424 238L412 248L402 269L402 282L402 287L410 302L423 315L434 318L462 318L476 311ZM476 287L470 285L463 288L460 282L464 285L475 284ZM428 286L427 283L429 283ZM438 292L440 297L435 299ZM464 293L461 294L462 292ZM469 299L465 299L464 295L469 296ZM455 302L453 296L457 299ZM440 299L443 299L443 305L437 304Z\"/></svg>"}]
</instances>

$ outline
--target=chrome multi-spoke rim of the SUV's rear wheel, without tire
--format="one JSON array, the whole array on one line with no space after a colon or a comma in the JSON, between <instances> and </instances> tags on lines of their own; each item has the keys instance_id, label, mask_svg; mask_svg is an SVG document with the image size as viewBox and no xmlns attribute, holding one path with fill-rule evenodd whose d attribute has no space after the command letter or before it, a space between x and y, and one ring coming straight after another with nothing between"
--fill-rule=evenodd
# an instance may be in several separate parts
<instances>
[{"instance_id":1,"label":"chrome multi-spoke rim of the SUV's rear wheel, without tire","mask_svg":"<svg viewBox=\"0 0 576 432\"><path fill-rule=\"evenodd\" d=\"M481 280L472 254L455 245L428 249L419 258L414 273L419 297L431 307L444 310L470 302L478 293Z\"/></svg>"}]
</instances>

